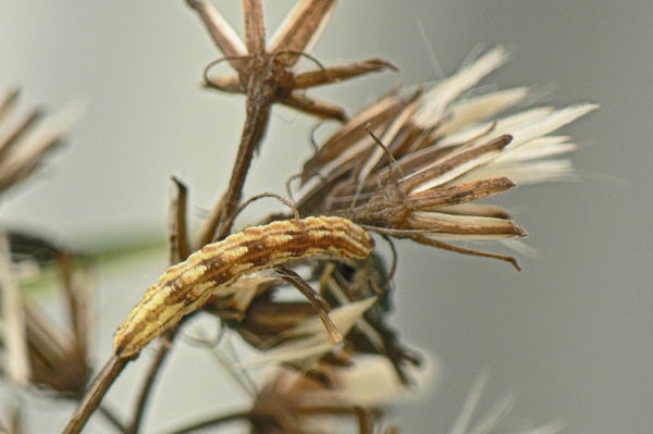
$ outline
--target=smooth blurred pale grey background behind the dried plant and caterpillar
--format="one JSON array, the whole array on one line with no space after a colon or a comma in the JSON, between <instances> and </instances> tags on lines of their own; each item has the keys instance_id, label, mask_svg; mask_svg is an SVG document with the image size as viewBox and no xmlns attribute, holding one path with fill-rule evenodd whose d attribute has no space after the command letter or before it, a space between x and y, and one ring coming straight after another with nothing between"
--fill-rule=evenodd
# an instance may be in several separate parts
<instances>
[{"instance_id":1,"label":"smooth blurred pale grey background behind the dried plant and caterpillar","mask_svg":"<svg viewBox=\"0 0 653 434\"><path fill-rule=\"evenodd\" d=\"M264 3L271 33L293 2ZM215 4L239 29L239 2ZM441 363L429 398L393 414L404 432L447 432L482 372L490 377L482 408L517 393L515 425L560 419L568 433L653 431L652 37L650 1L359 0L336 9L315 55L326 64L383 57L402 69L316 92L352 112L390 86L441 78L431 50L449 74L479 44L516 49L483 84L553 85L543 103L602 106L564 129L581 144L574 157L581 182L500 199L539 251L535 260L520 258L521 273L399 244L394 320ZM19 83L27 102L51 108L88 103L69 146L36 182L3 198L2 224L77 249L163 235L171 174L188 184L197 223L226 185L243 121L242 98L198 88L201 69L218 57L181 0L0 0L0 89ZM311 125L274 109L246 193L283 191L310 154ZM161 251L122 272L100 272L98 360L164 264ZM198 374L199 367L214 372L200 350L175 349L148 432L171 426L175 414L192 420L230 407L233 384ZM111 392L115 407L128 407L138 368ZM57 431L72 410L32 404L33 432ZM102 430L97 422L90 432Z\"/></svg>"}]
</instances>

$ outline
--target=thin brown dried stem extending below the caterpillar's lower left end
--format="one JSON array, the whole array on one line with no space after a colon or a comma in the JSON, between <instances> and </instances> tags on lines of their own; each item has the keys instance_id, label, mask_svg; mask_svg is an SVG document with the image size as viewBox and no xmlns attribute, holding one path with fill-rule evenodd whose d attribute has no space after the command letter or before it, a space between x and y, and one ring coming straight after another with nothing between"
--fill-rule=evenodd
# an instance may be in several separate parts
<instances>
[{"instance_id":1,"label":"thin brown dried stem extending below the caterpillar's lower left end","mask_svg":"<svg viewBox=\"0 0 653 434\"><path fill-rule=\"evenodd\" d=\"M88 418L98 408L109 387L111 387L118 375L120 375L131 360L130 358L120 358L116 356L112 356L109 359L86 390L86 395L84 395L84 398L75 409L62 434L76 434L84 429Z\"/></svg>"}]
</instances>

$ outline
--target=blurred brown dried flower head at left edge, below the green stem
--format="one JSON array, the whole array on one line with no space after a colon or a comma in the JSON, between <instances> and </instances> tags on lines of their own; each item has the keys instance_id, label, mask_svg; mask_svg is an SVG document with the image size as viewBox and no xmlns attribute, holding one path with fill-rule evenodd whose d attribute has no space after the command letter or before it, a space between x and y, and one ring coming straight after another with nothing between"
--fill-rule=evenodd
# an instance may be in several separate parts
<instances>
[{"instance_id":1,"label":"blurred brown dried flower head at left edge, below the green stem","mask_svg":"<svg viewBox=\"0 0 653 434\"><path fill-rule=\"evenodd\" d=\"M35 301L26 299L13 278L10 247L2 238L2 373L12 382L78 397L90 374L89 336L93 331L93 287L87 272L74 269L70 253L53 251L60 275L59 295L65 306L69 330L53 323ZM30 237L30 239L37 239ZM41 241L39 246L50 246Z\"/></svg>"}]
</instances>

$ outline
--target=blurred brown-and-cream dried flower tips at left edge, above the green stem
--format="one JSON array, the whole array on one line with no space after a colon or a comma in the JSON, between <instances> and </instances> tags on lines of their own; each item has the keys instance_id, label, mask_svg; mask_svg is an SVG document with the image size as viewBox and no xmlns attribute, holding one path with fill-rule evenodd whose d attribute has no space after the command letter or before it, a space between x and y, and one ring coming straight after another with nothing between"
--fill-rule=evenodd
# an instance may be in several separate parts
<instances>
[{"instance_id":1,"label":"blurred brown-and-cream dried flower tips at left edge, above the green stem","mask_svg":"<svg viewBox=\"0 0 653 434\"><path fill-rule=\"evenodd\" d=\"M29 176L82 113L71 104L50 116L38 108L17 116L19 96L17 88L0 96L0 194Z\"/></svg>"}]
</instances>

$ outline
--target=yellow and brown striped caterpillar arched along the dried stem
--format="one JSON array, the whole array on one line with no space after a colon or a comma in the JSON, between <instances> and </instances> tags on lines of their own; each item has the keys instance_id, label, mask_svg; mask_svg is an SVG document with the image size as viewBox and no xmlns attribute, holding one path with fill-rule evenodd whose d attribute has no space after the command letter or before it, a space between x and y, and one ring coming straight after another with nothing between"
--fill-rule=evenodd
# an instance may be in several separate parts
<instances>
[{"instance_id":1,"label":"yellow and brown striped caterpillar arched along the dried stem","mask_svg":"<svg viewBox=\"0 0 653 434\"><path fill-rule=\"evenodd\" d=\"M214 289L229 286L246 273L316 256L365 259L373 248L364 228L337 216L248 227L206 245L169 268L120 325L113 350L120 357L137 355L184 315L199 309Z\"/></svg>"}]
</instances>

